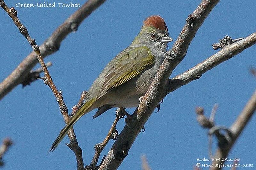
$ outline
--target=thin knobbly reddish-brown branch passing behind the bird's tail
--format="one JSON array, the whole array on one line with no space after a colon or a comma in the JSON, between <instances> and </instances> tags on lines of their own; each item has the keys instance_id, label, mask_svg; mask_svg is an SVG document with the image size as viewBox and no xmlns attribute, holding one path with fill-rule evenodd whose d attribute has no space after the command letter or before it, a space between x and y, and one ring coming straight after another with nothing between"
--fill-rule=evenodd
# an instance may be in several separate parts
<instances>
[{"instance_id":1,"label":"thin knobbly reddish-brown branch passing behind the bird's tail","mask_svg":"<svg viewBox=\"0 0 256 170\"><path fill-rule=\"evenodd\" d=\"M28 40L28 43L31 45L33 51L35 52L36 57L37 57L39 63L41 64L42 70L44 71L44 77L42 77L41 79L43 79L44 83L46 85L48 85L49 88L52 90L52 92L53 92L54 96L56 97L56 100L59 104L60 112L63 115L65 123L67 124L70 121L71 117L68 115L68 108L63 100L62 92L58 91L56 85L54 84L54 82L50 76L50 73L47 69L47 66L44 63L43 57L40 53L40 49L39 49L38 45L36 44L35 39L32 39L30 37L30 35L28 34L27 28L21 24L19 18L17 17L17 11L14 9L14 7L8 8L7 5L5 4L4 0L0 0L0 6L12 18L14 24L18 27L20 33ZM82 93L77 107L80 108L82 106L82 104L84 102L85 94L86 94L86 92ZM72 114L75 114L75 112L78 110L78 109L74 109L74 108L75 107L73 107L74 113L72 113ZM82 150L78 146L78 142L77 142L73 127L69 130L68 137L70 138L70 141L71 141L70 144L68 144L68 147L75 153L76 160L77 160L77 169L82 170L82 169L84 169Z\"/></svg>"}]
</instances>

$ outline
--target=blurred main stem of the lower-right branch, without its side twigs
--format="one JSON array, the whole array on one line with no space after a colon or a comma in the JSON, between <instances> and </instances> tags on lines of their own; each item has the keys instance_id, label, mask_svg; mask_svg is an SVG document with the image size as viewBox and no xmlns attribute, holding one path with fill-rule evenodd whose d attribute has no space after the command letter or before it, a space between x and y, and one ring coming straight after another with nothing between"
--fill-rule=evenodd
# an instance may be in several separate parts
<instances>
[{"instance_id":1,"label":"blurred main stem of the lower-right branch, without its side twigs","mask_svg":"<svg viewBox=\"0 0 256 170\"><path fill-rule=\"evenodd\" d=\"M236 121L231 125L230 131L232 133L232 140L231 142L224 148L218 147L216 154L215 154L215 159L212 164L225 164L225 162L222 162L222 158L227 158L228 153L230 152L232 146L236 142L236 139L239 137L241 132L244 130L247 122L250 120L252 117L253 113L256 110L256 90L254 91L252 97L250 100L247 102L245 105L244 109L240 113L240 115L237 117ZM219 160L220 159L220 160ZM217 170L219 167L212 167L212 170Z\"/></svg>"}]
</instances>

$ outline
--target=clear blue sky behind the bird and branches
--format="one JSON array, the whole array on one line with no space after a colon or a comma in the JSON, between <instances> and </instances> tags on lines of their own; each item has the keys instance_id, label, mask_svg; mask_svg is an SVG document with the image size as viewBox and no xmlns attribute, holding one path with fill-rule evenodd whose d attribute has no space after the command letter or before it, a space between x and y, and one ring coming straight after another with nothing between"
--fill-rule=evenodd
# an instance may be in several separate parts
<instances>
[{"instance_id":1,"label":"clear blue sky behind the bird and branches","mask_svg":"<svg viewBox=\"0 0 256 170\"><path fill-rule=\"evenodd\" d=\"M35 1L5 2L11 7L17 3ZM84 3L81 0L72 2ZM107 0L84 20L76 33L67 36L58 52L45 58L46 62L53 63L49 71L58 89L62 90L69 111L77 103L80 93L89 89L104 66L129 46L146 17L161 15L167 23L170 36L175 40L185 19L199 3L199 0ZM225 35L239 38L255 32L255 6L256 1L220 1L204 21L185 59L171 77L216 53L211 44ZM42 44L77 10L59 7L16 9L18 17L37 44ZM31 47L11 18L3 10L0 11L2 81L31 52ZM170 48L172 45L173 42L169 43ZM196 122L194 109L202 106L209 116L213 105L218 103L216 124L230 126L255 90L256 80L248 71L251 66L256 67L255 51L256 46L252 46L208 71L199 80L170 93L161 104L160 112L153 113L149 118L145 125L146 131L139 134L119 169L141 169L142 154L146 155L152 169L192 169L198 163L197 158L209 158L207 130ZM133 110L128 109L128 112L132 113ZM64 121L52 92L42 81L36 81L23 89L18 85L0 101L0 113L0 140L10 137L14 141L4 156L6 164L3 169L76 169L74 154L65 145L69 142L68 137L53 153L48 153ZM115 119L115 109L97 119L92 119L94 113L92 111L83 116L74 126L85 165L90 164L94 145L102 142ZM240 158L241 164L255 164L256 148L252 147L256 143L255 121L253 116L228 158ZM119 132L124 124L124 120L118 123ZM110 141L100 159L108 153L112 144L113 141Z\"/></svg>"}]
</instances>

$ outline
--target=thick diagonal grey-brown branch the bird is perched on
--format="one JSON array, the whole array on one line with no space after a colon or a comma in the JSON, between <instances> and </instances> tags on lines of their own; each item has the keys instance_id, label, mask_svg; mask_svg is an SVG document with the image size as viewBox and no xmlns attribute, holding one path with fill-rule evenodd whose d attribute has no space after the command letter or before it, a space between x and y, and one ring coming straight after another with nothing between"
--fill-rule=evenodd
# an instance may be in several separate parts
<instances>
[{"instance_id":1,"label":"thick diagonal grey-brown branch the bird is perched on","mask_svg":"<svg viewBox=\"0 0 256 170\"><path fill-rule=\"evenodd\" d=\"M103 164L100 166L100 170L117 169L120 166L149 116L167 94L166 85L168 84L168 78L172 70L185 57L188 46L197 30L218 2L219 0L203 0L196 10L188 16L187 23L178 39L172 49L167 52L169 58L166 58L160 66L148 92L144 95L142 103L139 105L138 112L135 111L133 113L129 126L125 125L108 152Z\"/></svg>"}]
</instances>

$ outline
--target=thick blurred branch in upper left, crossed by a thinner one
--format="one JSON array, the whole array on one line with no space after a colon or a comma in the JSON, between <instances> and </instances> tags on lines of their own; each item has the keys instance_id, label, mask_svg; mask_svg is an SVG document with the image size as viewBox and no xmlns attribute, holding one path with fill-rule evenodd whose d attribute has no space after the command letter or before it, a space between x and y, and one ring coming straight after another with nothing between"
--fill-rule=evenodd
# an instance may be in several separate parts
<instances>
[{"instance_id":1,"label":"thick blurred branch in upper left, crossed by a thinner one","mask_svg":"<svg viewBox=\"0 0 256 170\"><path fill-rule=\"evenodd\" d=\"M105 1L106 0L88 0L39 46L41 55L46 57L59 50L60 43L66 36L72 31L77 31L81 22ZM0 0L0 6L3 2L3 0ZM0 83L0 100L14 87L24 81L37 62L36 55L33 52L30 53L18 67Z\"/></svg>"}]
</instances>

